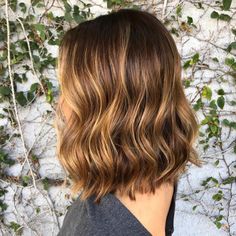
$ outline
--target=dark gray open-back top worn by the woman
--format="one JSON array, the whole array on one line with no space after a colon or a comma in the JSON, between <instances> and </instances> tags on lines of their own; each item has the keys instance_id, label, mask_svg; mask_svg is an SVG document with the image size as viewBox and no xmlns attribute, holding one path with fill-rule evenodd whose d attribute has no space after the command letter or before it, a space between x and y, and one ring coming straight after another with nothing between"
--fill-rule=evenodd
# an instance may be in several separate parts
<instances>
[{"instance_id":1,"label":"dark gray open-back top worn by the woman","mask_svg":"<svg viewBox=\"0 0 236 236\"><path fill-rule=\"evenodd\" d=\"M166 220L166 236L174 231L177 184L174 185ZM151 236L150 232L113 194L106 194L99 204L91 196L81 201L79 196L69 207L57 236Z\"/></svg>"}]
</instances>

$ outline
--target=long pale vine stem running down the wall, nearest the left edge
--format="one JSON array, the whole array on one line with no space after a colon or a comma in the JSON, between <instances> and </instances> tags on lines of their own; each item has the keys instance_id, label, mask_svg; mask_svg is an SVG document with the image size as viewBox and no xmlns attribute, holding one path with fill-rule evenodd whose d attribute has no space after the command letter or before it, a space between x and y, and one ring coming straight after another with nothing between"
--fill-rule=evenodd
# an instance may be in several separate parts
<instances>
[{"instance_id":1,"label":"long pale vine stem running down the wall, nearest the left edge","mask_svg":"<svg viewBox=\"0 0 236 236\"><path fill-rule=\"evenodd\" d=\"M25 140L24 140L21 122L19 119L19 114L18 114L17 104L16 104L16 95L15 95L14 84L13 84L13 77L12 77L12 70L11 70L11 58L10 58L10 44L11 44L11 42L10 42L10 25L9 25L9 15L8 15L8 4L9 4L8 0L5 0L5 14L6 14L6 26L7 26L7 64L8 64L7 66L8 66L8 73L9 73L9 78L10 78L10 82L11 82L12 100L13 100L13 106L14 106L14 111L15 111L15 117L17 120L19 132L20 132L20 137L21 137L21 141L22 141L22 145L23 145L24 156L25 156L26 162L29 166L29 170L30 170L30 174L32 176L34 188L37 189L35 178L34 178L34 173L31 168L28 154L27 154L27 150L26 150L26 146L25 146Z\"/></svg>"}]
</instances>

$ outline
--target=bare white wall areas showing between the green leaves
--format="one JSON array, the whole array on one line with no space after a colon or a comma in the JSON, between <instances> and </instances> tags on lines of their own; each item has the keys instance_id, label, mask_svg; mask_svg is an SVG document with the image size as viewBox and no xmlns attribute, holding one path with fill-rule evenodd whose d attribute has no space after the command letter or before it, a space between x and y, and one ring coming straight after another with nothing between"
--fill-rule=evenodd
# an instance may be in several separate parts
<instances>
[{"instance_id":1,"label":"bare white wall areas showing between the green leaves","mask_svg":"<svg viewBox=\"0 0 236 236\"><path fill-rule=\"evenodd\" d=\"M29 1L24 2L29 5ZM164 2L167 3L165 17L169 18L172 14L175 15L176 6L181 3L183 4L183 9L182 17L178 19L179 23L186 21L187 16L191 16L193 23L197 27L186 26L188 31L181 31L176 22L172 25L178 29L180 35L180 37L174 37L183 62L190 59L196 52L200 54L200 62L193 69L194 73L191 70L187 70L187 72L183 70L183 78L194 80L191 87L186 88L186 95L189 100L199 97L197 95L197 87L202 88L204 85L208 85L213 91L213 98L216 99L217 90L223 88L226 93L226 102L224 109L219 112L220 120L227 118L231 121L236 121L235 105L230 105L230 101L235 101L236 81L232 76L225 74L229 71L229 67L224 63L226 57L234 57L236 60L236 50L233 49L230 53L223 50L231 42L235 41L235 35L231 30L236 28L236 1L233 1L230 11L220 11L214 1L203 1L204 9L198 9L194 6L194 3L196 5L198 1ZM77 1L71 1L71 3L77 3ZM94 6L91 11L95 16L107 12L106 4L102 0L96 0L92 4ZM148 9L155 9L157 17L162 19L163 3L136 1L135 4L143 4L144 9L152 4L152 7ZM232 16L232 20L226 22L212 19L210 14L213 10L229 14ZM4 11L4 7L1 7L1 15L5 14ZM63 14L57 8L53 12L55 15ZM10 18L13 19L15 16L11 12L9 13ZM51 45L47 47L56 57L57 47ZM218 63L212 60L214 57L218 58ZM19 67L20 70L22 68ZM48 71L47 73L47 76L57 86L55 71ZM221 76L225 81L220 80ZM27 77L29 81L19 84L19 90L24 91L29 88L33 81L37 81L32 72L27 72ZM194 102L196 100L195 98ZM7 103L0 104L0 111L2 112L2 109L6 106L8 106ZM48 191L45 191L40 182L40 178L63 179L64 177L64 172L55 157L56 136L52 126L53 113L47 115L47 110L51 110L51 106L45 102L44 96L39 97L33 106L28 106L27 108L19 107L26 147L28 150L32 148L33 153L39 157L37 189L35 190L32 186L21 187L12 183L12 181L1 180L0 182L1 187L8 190L4 197L4 202L8 204L8 208L4 213L4 224L14 221L23 225L23 235L56 235L58 226L62 224L66 206L69 206L71 201L68 188L63 188L59 185L50 187ZM207 110L204 112L207 112ZM202 111L198 112L198 116L199 120L204 119ZM8 119L1 119L0 122L1 125L8 127L11 133L14 132ZM204 126L201 127L201 130L204 132ZM228 127L223 127L222 150L219 149L218 145L214 147L214 139L210 140L210 147L206 152L203 150L202 145L198 144L200 156L206 161L206 164L201 169L190 166L188 172L181 178L177 192L174 236L236 235L235 182L225 185L225 188L222 189L224 192L224 200L222 201L224 210L221 213L226 218L225 221L222 221L225 223L222 229L217 229L213 223L214 217L218 215L219 205L214 202L212 195L217 193L219 188L212 187L206 190L200 185L202 180L210 176L214 176L219 182L221 178L228 177L228 172L230 172L231 176L236 176L236 156L233 152L235 137L235 129L229 130ZM26 175L29 169L24 159L21 140L19 138L11 138L4 149L8 150L10 157L18 160L15 165L6 169L6 173L12 178L17 178L22 174ZM215 166L214 162L217 159L219 159L219 165ZM199 193L195 193L196 190L199 190ZM183 195L187 195L188 201ZM193 211L192 208L196 205L197 207ZM38 214L35 213L37 207L40 207ZM228 226L228 223L232 225ZM4 236L13 235L2 223L0 226L2 228L0 234Z\"/></svg>"}]
</instances>

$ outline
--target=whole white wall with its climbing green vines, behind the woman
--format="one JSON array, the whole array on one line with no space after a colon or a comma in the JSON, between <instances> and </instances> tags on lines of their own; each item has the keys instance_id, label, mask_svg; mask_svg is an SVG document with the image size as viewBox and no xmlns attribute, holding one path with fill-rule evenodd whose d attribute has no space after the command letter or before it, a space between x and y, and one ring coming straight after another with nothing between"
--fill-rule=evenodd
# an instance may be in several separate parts
<instances>
[{"instance_id":1,"label":"whole white wall with its climbing green vines, behind the woman","mask_svg":"<svg viewBox=\"0 0 236 236\"><path fill-rule=\"evenodd\" d=\"M55 154L58 42L83 18L133 5L172 33L201 123L205 164L181 178L173 235L236 235L236 1L82 3L0 1L0 235L58 232L72 202Z\"/></svg>"}]
</instances>

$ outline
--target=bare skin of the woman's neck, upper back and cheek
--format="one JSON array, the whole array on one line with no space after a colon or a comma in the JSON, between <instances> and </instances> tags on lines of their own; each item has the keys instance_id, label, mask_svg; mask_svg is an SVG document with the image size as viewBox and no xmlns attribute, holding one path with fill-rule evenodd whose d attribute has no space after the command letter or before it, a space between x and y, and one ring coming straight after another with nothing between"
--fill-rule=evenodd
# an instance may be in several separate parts
<instances>
[{"instance_id":1,"label":"bare skin of the woman's neck, upper back and cheek","mask_svg":"<svg viewBox=\"0 0 236 236\"><path fill-rule=\"evenodd\" d=\"M69 120L71 109L61 96L62 111L66 120ZM162 184L155 194L136 193L136 201L128 196L121 195L117 190L114 195L140 221L153 236L165 236L165 224L174 191L173 184Z\"/></svg>"}]
</instances>

